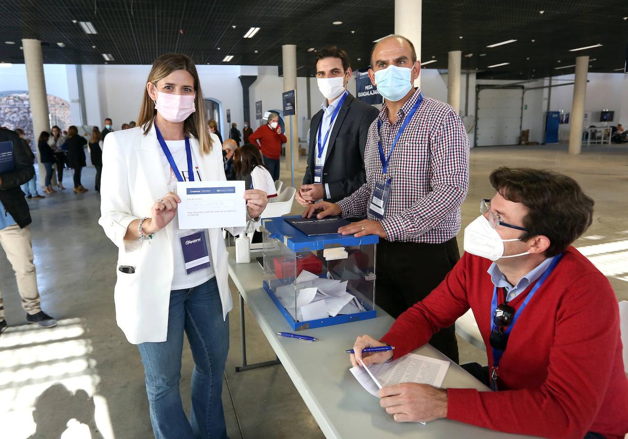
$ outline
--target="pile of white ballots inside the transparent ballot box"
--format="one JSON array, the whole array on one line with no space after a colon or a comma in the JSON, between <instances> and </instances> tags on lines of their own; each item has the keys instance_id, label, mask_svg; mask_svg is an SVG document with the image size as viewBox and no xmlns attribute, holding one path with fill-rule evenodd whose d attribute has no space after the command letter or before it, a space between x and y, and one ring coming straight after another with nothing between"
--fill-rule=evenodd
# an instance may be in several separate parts
<instances>
[{"instance_id":1,"label":"pile of white ballots inside the transparent ballot box","mask_svg":"<svg viewBox=\"0 0 628 439\"><path fill-rule=\"evenodd\" d=\"M298 322L365 311L360 301L347 293L347 281L319 278L306 270L301 271L295 285L279 286L275 296Z\"/></svg>"}]
</instances>

